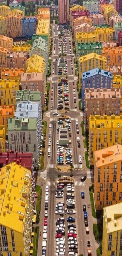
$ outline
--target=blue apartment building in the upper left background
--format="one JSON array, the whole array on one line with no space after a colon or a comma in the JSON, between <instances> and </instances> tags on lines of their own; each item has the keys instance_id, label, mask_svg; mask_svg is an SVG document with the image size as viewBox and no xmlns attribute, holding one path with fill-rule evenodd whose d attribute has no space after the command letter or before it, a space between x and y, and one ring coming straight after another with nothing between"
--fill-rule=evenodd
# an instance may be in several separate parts
<instances>
[{"instance_id":1,"label":"blue apartment building in the upper left background","mask_svg":"<svg viewBox=\"0 0 122 256\"><path fill-rule=\"evenodd\" d=\"M33 34L36 34L36 21L36 17L25 17L21 19L23 37L32 37Z\"/></svg>"}]
</instances>

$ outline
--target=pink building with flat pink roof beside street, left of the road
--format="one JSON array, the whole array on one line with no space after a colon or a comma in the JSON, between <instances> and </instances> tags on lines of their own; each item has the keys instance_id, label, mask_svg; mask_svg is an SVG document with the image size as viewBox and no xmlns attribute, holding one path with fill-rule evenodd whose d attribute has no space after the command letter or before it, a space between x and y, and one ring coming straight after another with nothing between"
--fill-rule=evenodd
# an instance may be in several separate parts
<instances>
[{"instance_id":1,"label":"pink building with flat pink roof beside street, left of the road","mask_svg":"<svg viewBox=\"0 0 122 256\"><path fill-rule=\"evenodd\" d=\"M45 108L45 84L42 73L21 74L21 89L41 92L41 107Z\"/></svg>"}]
</instances>

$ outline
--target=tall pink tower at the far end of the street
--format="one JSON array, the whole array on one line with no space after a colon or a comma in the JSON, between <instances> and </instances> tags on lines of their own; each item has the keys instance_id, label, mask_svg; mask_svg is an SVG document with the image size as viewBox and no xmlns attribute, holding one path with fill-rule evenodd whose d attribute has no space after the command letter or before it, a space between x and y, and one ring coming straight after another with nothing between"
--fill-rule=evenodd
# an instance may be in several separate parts
<instances>
[{"instance_id":1,"label":"tall pink tower at the far end of the street","mask_svg":"<svg viewBox=\"0 0 122 256\"><path fill-rule=\"evenodd\" d=\"M58 0L58 20L61 24L69 22L69 0Z\"/></svg>"}]
</instances>

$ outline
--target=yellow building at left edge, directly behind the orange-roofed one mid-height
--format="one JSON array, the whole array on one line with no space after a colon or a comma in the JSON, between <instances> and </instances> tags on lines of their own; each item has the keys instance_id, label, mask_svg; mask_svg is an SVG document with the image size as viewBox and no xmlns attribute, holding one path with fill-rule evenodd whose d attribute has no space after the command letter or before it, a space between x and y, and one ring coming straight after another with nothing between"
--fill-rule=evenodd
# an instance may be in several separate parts
<instances>
[{"instance_id":1,"label":"yellow building at left edge, directly behind the orange-roofed one mid-height","mask_svg":"<svg viewBox=\"0 0 122 256\"><path fill-rule=\"evenodd\" d=\"M19 80L0 79L0 105L16 105L16 92L19 90Z\"/></svg>"}]
</instances>

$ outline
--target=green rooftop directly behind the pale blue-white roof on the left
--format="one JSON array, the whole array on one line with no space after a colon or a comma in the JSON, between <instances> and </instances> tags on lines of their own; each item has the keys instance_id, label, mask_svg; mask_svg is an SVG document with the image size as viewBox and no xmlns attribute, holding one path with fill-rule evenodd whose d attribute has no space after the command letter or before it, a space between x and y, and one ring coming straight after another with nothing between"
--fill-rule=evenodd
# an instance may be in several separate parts
<instances>
[{"instance_id":1,"label":"green rooftop directly behind the pale blue-white roof on the left","mask_svg":"<svg viewBox=\"0 0 122 256\"><path fill-rule=\"evenodd\" d=\"M39 74L39 73L38 73ZM35 92L35 91L30 91L30 90L24 90L24 91L17 91L16 92L16 102L21 102L21 101L35 101L35 102L40 102L41 98L41 92Z\"/></svg>"}]
</instances>

